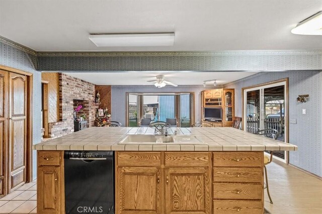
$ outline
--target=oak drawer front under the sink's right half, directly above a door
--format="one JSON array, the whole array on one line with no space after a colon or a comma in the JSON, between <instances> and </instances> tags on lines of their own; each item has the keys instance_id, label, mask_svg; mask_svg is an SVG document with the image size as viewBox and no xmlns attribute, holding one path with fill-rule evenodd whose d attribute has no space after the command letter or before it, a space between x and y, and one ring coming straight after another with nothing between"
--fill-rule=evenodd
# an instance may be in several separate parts
<instances>
[{"instance_id":1,"label":"oak drawer front under the sink's right half, directly above a door","mask_svg":"<svg viewBox=\"0 0 322 214\"><path fill-rule=\"evenodd\" d=\"M166 166L209 166L208 152L165 152Z\"/></svg>"}]
</instances>

